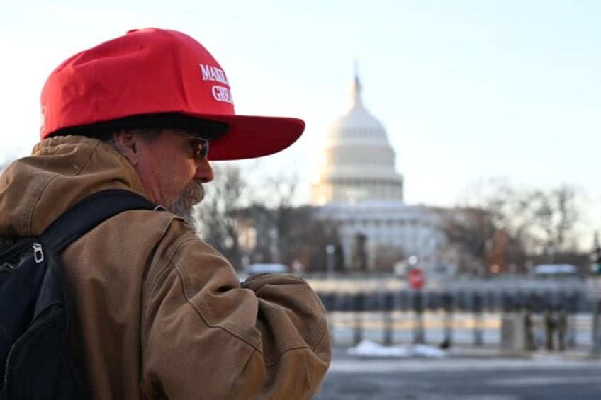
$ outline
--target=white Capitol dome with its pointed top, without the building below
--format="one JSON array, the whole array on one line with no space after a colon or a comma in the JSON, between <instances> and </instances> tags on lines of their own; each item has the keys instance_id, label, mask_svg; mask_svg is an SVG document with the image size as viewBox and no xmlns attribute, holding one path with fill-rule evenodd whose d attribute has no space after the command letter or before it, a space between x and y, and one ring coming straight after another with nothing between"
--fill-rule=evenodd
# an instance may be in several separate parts
<instances>
[{"instance_id":1,"label":"white Capitol dome with its pointed top, without the building below","mask_svg":"<svg viewBox=\"0 0 601 400\"><path fill-rule=\"evenodd\" d=\"M311 193L314 204L403 200L403 178L395 171L395 152L383 125L361 101L358 76L352 86L351 107L332 123L320 156Z\"/></svg>"}]
</instances>

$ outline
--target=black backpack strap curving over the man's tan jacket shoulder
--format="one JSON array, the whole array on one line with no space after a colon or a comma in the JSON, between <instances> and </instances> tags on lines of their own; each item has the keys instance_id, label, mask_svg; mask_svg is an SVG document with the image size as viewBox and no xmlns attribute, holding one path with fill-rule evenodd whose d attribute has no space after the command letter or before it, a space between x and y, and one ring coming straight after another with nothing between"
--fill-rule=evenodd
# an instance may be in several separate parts
<instances>
[{"instance_id":1,"label":"black backpack strap curving over the man's tan jacket shoulder","mask_svg":"<svg viewBox=\"0 0 601 400\"><path fill-rule=\"evenodd\" d=\"M147 198L131 190L108 189L93 193L55 219L40 242L60 252L104 220L127 210L159 210Z\"/></svg>"}]
</instances>

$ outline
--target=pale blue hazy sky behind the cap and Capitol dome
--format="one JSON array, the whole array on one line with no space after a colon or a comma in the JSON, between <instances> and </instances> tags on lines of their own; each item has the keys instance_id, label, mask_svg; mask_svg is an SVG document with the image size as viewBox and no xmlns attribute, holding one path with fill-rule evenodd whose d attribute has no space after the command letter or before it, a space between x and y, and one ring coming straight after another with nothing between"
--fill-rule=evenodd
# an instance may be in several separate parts
<instances>
[{"instance_id":1,"label":"pale blue hazy sky behind the cap and Capitol dome","mask_svg":"<svg viewBox=\"0 0 601 400\"><path fill-rule=\"evenodd\" d=\"M37 140L40 88L59 62L158 26L213 53L237 113L306 120L297 144L261 163L287 162L305 188L358 59L407 202L451 205L471 183L505 176L578 185L601 205L600 1L0 0L0 11L0 156Z\"/></svg>"}]
</instances>

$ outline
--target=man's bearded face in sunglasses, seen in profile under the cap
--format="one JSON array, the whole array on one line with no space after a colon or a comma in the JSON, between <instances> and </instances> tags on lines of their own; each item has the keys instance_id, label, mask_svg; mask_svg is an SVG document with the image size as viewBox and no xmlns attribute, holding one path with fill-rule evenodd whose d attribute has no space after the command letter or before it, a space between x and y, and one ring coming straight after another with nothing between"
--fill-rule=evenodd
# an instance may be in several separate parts
<instances>
[{"instance_id":1,"label":"man's bearded face in sunglasses, seen in profile under the cap","mask_svg":"<svg viewBox=\"0 0 601 400\"><path fill-rule=\"evenodd\" d=\"M128 158L148 197L194 226L192 207L203 199L202 184L213 180L213 168L202 151L208 144L179 130L162 130L152 140L140 135L132 142L135 162Z\"/></svg>"}]
</instances>

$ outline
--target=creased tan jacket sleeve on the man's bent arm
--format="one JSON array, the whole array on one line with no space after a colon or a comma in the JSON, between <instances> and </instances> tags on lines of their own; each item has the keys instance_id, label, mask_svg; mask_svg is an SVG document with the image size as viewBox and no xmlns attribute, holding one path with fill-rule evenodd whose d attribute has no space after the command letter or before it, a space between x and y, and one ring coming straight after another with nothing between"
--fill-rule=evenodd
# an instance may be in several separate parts
<instances>
[{"instance_id":1,"label":"creased tan jacket sleeve on the man's bent arm","mask_svg":"<svg viewBox=\"0 0 601 400\"><path fill-rule=\"evenodd\" d=\"M242 285L198 238L161 249L145 285L142 391L168 399L309 399L330 365L325 309L293 275Z\"/></svg>"}]
</instances>

